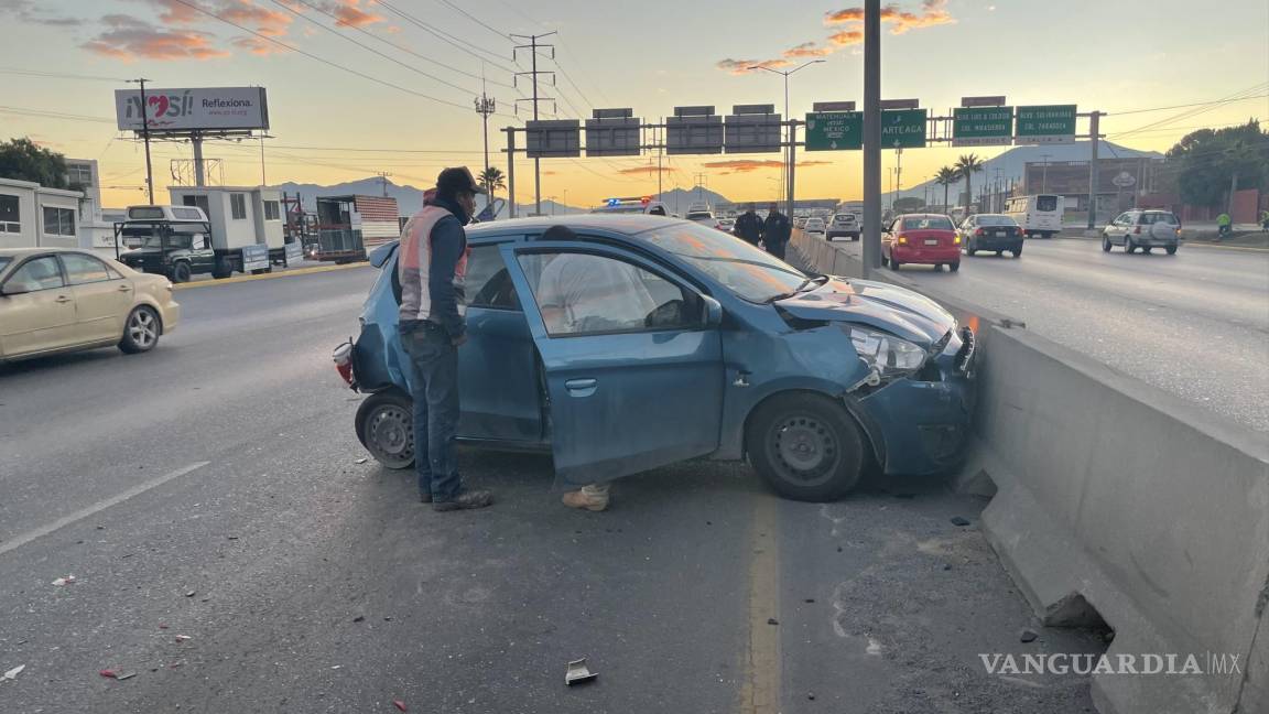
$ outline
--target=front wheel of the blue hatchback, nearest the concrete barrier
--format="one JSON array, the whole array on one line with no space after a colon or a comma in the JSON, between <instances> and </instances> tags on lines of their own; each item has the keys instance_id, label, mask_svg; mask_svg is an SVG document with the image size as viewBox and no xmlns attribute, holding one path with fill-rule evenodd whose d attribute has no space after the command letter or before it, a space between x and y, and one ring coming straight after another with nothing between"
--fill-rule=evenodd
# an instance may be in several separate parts
<instances>
[{"instance_id":1,"label":"front wheel of the blue hatchback, nearest the concrete barrier","mask_svg":"<svg viewBox=\"0 0 1269 714\"><path fill-rule=\"evenodd\" d=\"M863 433L827 396L777 395L750 417L745 436L750 464L784 498L836 501L863 474Z\"/></svg>"}]
</instances>

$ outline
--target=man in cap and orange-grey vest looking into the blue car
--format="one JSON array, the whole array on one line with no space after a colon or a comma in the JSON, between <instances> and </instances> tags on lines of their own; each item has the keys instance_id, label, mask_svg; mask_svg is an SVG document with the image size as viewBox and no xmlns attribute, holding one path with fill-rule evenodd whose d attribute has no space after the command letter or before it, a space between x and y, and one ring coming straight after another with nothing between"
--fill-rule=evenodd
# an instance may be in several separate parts
<instances>
[{"instance_id":1,"label":"man in cap and orange-grey vest looking into the blue car","mask_svg":"<svg viewBox=\"0 0 1269 714\"><path fill-rule=\"evenodd\" d=\"M458 348L467 342L463 278L476 194L485 189L467 168L445 169L437 196L401 232L401 346L410 354L414 398L414 469L419 498L433 511L483 508L487 490L467 490L458 475Z\"/></svg>"}]
</instances>

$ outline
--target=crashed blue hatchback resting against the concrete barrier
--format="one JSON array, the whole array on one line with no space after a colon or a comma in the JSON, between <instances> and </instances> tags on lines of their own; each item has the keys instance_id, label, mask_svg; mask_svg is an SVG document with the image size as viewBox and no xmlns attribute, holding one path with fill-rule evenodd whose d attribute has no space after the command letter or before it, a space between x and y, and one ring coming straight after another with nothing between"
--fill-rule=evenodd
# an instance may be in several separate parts
<instances>
[{"instance_id":1,"label":"crashed blue hatchback resting against the concrete barrier","mask_svg":"<svg viewBox=\"0 0 1269 714\"><path fill-rule=\"evenodd\" d=\"M556 224L576 240L541 240ZM464 443L549 452L574 484L747 457L801 501L841 497L871 464L929 474L961 454L973 333L921 295L808 274L660 216L510 220L467 235ZM336 363L369 393L357 436L404 469L414 445L396 243L371 262L382 274Z\"/></svg>"}]
</instances>

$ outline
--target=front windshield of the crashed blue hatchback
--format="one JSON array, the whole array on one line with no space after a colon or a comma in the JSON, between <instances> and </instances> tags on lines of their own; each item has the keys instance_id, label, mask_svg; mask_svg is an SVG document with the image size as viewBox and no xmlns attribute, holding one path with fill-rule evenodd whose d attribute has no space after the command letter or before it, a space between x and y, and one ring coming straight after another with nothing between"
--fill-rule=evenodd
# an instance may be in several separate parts
<instances>
[{"instance_id":1,"label":"front windshield of the crashed blue hatchback","mask_svg":"<svg viewBox=\"0 0 1269 714\"><path fill-rule=\"evenodd\" d=\"M638 234L638 238L683 258L750 302L796 292L806 283L802 271L764 250L695 224L676 224Z\"/></svg>"}]
</instances>

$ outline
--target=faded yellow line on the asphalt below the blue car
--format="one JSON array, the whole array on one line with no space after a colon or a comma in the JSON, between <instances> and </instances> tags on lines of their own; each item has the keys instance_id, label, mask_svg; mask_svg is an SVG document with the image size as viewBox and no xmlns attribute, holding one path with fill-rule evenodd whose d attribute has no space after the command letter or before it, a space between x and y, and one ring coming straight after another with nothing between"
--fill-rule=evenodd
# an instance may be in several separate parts
<instances>
[{"instance_id":1,"label":"faded yellow line on the asphalt below the blue car","mask_svg":"<svg viewBox=\"0 0 1269 714\"><path fill-rule=\"evenodd\" d=\"M754 502L741 714L777 714L780 710L780 628L768 623L772 617L779 619L780 612L778 507L777 498L769 493L759 493Z\"/></svg>"}]
</instances>

